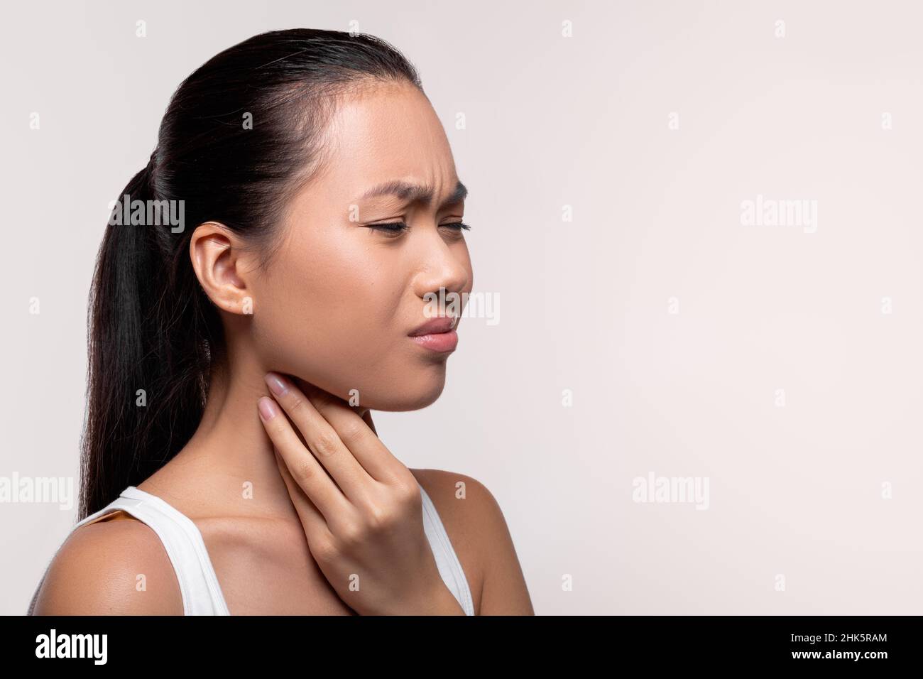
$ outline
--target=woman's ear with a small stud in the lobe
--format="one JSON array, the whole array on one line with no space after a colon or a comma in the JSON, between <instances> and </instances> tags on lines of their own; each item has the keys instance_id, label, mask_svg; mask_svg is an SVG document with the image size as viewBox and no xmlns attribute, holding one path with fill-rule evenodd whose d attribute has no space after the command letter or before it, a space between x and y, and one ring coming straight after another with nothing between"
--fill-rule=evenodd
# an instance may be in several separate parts
<instances>
[{"instance_id":1,"label":"woman's ear with a small stud in the lobe","mask_svg":"<svg viewBox=\"0 0 923 679\"><path fill-rule=\"evenodd\" d=\"M250 254L231 229L216 222L199 224L189 239L189 257L215 306L234 314L253 313Z\"/></svg>"}]
</instances>

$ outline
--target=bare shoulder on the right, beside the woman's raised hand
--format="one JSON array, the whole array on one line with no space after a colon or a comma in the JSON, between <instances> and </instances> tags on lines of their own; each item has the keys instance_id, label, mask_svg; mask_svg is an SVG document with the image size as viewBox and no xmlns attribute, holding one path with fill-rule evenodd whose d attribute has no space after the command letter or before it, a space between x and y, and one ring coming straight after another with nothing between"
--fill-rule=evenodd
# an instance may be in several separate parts
<instances>
[{"instance_id":1,"label":"bare shoulder on the right, beside the woman's raised hand","mask_svg":"<svg viewBox=\"0 0 923 679\"><path fill-rule=\"evenodd\" d=\"M533 614L516 548L493 493L458 472L411 472L446 527L468 578L475 614Z\"/></svg>"}]
</instances>

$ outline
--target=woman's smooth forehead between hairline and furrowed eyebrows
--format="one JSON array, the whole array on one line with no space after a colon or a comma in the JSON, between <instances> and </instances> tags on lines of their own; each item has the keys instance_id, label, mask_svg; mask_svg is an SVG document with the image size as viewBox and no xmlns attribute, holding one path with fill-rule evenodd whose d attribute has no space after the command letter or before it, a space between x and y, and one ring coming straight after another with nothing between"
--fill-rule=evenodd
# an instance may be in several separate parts
<instances>
[{"instance_id":1,"label":"woman's smooth forehead between hairline and furrowed eyebrows","mask_svg":"<svg viewBox=\"0 0 923 679\"><path fill-rule=\"evenodd\" d=\"M322 182L341 198L353 200L397 179L442 191L454 188L449 139L426 95L412 85L376 84L347 95L325 138L328 165Z\"/></svg>"}]
</instances>

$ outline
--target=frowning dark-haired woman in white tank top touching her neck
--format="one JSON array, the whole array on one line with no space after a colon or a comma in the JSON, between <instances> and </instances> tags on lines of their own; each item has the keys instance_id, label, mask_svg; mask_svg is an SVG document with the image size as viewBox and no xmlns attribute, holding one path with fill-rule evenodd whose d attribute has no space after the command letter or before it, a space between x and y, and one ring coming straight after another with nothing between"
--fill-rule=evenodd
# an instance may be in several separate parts
<instances>
[{"instance_id":1,"label":"frowning dark-haired woman in white tank top touching her neck","mask_svg":"<svg viewBox=\"0 0 923 679\"><path fill-rule=\"evenodd\" d=\"M369 415L443 389L465 193L387 42L273 31L187 78L102 242L80 522L30 612L532 614L490 492Z\"/></svg>"}]
</instances>

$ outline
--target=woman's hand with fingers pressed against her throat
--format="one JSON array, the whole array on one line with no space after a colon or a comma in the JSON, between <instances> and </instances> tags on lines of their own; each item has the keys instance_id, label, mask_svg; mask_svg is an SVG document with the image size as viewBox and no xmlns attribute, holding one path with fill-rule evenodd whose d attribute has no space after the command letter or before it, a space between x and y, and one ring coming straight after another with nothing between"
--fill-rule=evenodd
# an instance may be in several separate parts
<instances>
[{"instance_id":1,"label":"woman's hand with fingers pressed against her throat","mask_svg":"<svg viewBox=\"0 0 923 679\"><path fill-rule=\"evenodd\" d=\"M362 615L463 615L426 540L417 481L367 411L275 372L266 382L275 401L259 399L260 419L311 554L340 598Z\"/></svg>"}]
</instances>

